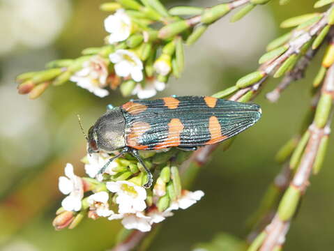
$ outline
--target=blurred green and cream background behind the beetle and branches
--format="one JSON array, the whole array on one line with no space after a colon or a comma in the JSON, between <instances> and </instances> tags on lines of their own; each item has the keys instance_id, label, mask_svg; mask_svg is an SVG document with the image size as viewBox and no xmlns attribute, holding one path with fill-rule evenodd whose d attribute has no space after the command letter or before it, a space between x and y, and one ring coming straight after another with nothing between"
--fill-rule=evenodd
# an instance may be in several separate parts
<instances>
[{"instance_id":1,"label":"blurred green and cream background behind the beetle and branches","mask_svg":"<svg viewBox=\"0 0 334 251\"><path fill-rule=\"evenodd\" d=\"M40 70L47 61L73 58L85 47L99 46L106 33L103 1L0 0L0 250L106 250L111 248L119 222L84 220L73 230L54 231L52 220L62 195L58 177L66 162L83 173L79 159L85 142L77 124L85 128L105 111L105 105L126 102L118 91L98 98L75 84L50 88L38 100L16 92L15 75ZM163 1L167 6L212 6L217 1ZM186 50L181 79L172 79L158 96L210 95L257 68L266 43L283 33L278 26L293 15L312 11L310 0L276 1L259 6L243 20L227 18L211 26L199 42ZM321 60L320 52L303 81L294 83L278 103L264 93L255 100L263 118L234 142L229 151L215 151L200 172L193 190L206 196L186 211L168 218L149 250L190 250L208 242L218 231L239 238L248 232L245 221L280 171L273 157L298 132L310 102L310 86ZM331 137L333 139L333 137ZM333 249L333 140L324 169L312 177L298 217L291 225L284 250Z\"/></svg>"}]
</instances>

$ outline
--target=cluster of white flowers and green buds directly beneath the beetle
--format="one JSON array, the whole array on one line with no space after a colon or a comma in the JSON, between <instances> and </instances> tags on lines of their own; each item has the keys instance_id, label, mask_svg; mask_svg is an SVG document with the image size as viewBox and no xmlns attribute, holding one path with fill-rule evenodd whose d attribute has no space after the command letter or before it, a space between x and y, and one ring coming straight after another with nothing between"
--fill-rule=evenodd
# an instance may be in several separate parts
<instances>
[{"instance_id":1,"label":"cluster of white flowers and green buds directly beneath the beetle","mask_svg":"<svg viewBox=\"0 0 334 251\"><path fill-rule=\"evenodd\" d=\"M57 211L54 227L73 228L87 215L92 219L121 219L126 229L150 231L153 223L172 216L172 211L192 206L204 196L204 192L181 189L178 168L161 164L163 158L175 158L178 155L177 151L169 152L145 153L146 156L142 156L146 157L146 162L153 163L151 170L159 174L149 189L142 187L146 174L140 171L141 165L137 160L114 160L102 179L96 176L110 158L105 153L93 153L83 158L89 177L76 176L73 165L67 164L65 176L59 177L59 190L67 196Z\"/></svg>"}]
</instances>

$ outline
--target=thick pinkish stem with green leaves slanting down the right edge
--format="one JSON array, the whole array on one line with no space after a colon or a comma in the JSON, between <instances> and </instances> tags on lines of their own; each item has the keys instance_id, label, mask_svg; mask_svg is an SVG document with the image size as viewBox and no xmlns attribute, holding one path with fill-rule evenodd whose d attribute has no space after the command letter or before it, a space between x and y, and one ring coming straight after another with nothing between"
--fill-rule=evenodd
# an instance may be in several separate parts
<instances>
[{"instance_id":1,"label":"thick pinkish stem with green leaves slanting down the right edge","mask_svg":"<svg viewBox=\"0 0 334 251\"><path fill-rule=\"evenodd\" d=\"M326 74L324 86L321 89L321 98L317 105L317 112L314 115L314 121L308 128L308 142L301 155L300 164L296 169L296 173L292 178L289 188L280 201L278 211L275 213L271 223L264 229L262 234L259 234L249 250L271 251L275 248L280 248L284 244L285 236L289 230L291 219L296 215L298 204L301 202L301 197L305 194L306 188L310 183L310 175L312 169L315 170L315 165L319 165L319 156L323 158L326 151L326 142L330 133L331 116L329 111L333 107L334 99L334 65L332 65ZM331 99L330 102L328 97ZM324 121L326 118L326 121ZM319 171L319 167L317 167ZM314 171L314 172L317 172ZM260 245L257 247L258 238L263 238Z\"/></svg>"}]
</instances>

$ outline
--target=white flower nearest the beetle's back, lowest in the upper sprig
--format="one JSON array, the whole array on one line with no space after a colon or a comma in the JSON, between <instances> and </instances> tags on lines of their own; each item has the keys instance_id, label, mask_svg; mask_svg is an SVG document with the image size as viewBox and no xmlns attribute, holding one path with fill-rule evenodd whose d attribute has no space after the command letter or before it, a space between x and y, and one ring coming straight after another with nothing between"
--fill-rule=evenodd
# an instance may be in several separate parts
<instances>
[{"instance_id":1,"label":"white flower nearest the beetle's back, lowest in the upper sprig","mask_svg":"<svg viewBox=\"0 0 334 251\"><path fill-rule=\"evenodd\" d=\"M146 79L145 86L142 87L142 84L137 84L132 91L132 95L137 94L140 99L151 98L156 95L157 91L163 91L165 87L164 82L159 82L156 79Z\"/></svg>"}]
</instances>

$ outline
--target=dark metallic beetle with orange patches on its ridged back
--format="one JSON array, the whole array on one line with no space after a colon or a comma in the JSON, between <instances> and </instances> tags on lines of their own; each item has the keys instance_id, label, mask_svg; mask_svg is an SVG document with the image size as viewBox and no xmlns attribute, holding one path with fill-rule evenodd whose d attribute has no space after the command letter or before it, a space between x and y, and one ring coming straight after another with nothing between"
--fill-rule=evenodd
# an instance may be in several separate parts
<instances>
[{"instance_id":1,"label":"dark metallic beetle with orange patches on its ridged back","mask_svg":"<svg viewBox=\"0 0 334 251\"><path fill-rule=\"evenodd\" d=\"M254 125L261 117L259 105L209 96L171 96L155 100L130 100L108 109L88 132L88 151L110 153L120 150L100 169L124 153L131 153L148 176L145 188L152 185L152 174L138 150L179 147L196 150L222 142Z\"/></svg>"}]
</instances>

